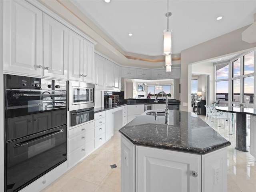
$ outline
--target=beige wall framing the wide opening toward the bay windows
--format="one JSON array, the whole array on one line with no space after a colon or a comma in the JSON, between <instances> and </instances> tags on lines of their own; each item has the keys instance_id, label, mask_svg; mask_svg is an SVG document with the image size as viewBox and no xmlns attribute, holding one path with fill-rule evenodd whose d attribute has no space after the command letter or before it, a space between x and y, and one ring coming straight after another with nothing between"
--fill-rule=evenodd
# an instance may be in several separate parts
<instances>
[{"instance_id":1,"label":"beige wall framing the wide opening toward the bay windows","mask_svg":"<svg viewBox=\"0 0 256 192\"><path fill-rule=\"evenodd\" d=\"M241 34L246 30L246 28L248 28L248 26L198 44L181 52L180 84L182 89L180 94L180 110L190 110L189 103L191 99L192 64L256 48L256 43L249 44L242 41ZM184 106L183 103L188 103L188 106Z\"/></svg>"}]
</instances>

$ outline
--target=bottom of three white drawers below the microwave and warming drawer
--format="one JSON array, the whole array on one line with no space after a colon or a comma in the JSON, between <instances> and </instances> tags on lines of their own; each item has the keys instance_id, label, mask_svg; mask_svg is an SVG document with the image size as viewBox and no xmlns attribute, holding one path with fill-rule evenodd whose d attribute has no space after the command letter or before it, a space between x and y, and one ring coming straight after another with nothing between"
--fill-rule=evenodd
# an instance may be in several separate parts
<instances>
[{"instance_id":1,"label":"bottom of three white drawers below the microwave and warming drawer","mask_svg":"<svg viewBox=\"0 0 256 192\"><path fill-rule=\"evenodd\" d=\"M73 166L86 155L90 154L94 150L94 140L84 144L77 150L74 150L72 153L68 154L68 166Z\"/></svg>"}]
</instances>

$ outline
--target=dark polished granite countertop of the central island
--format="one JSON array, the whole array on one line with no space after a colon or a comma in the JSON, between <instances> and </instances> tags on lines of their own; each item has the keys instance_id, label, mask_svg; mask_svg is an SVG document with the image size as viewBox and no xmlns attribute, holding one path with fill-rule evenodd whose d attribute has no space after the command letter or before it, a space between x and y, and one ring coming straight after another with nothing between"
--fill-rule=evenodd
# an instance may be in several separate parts
<instances>
[{"instance_id":1,"label":"dark polished granite countertop of the central island","mask_svg":"<svg viewBox=\"0 0 256 192\"><path fill-rule=\"evenodd\" d=\"M155 118L154 115L146 115L147 112L119 130L134 145L194 154L207 154L230 145L194 113L170 110L167 125L165 116Z\"/></svg>"}]
</instances>

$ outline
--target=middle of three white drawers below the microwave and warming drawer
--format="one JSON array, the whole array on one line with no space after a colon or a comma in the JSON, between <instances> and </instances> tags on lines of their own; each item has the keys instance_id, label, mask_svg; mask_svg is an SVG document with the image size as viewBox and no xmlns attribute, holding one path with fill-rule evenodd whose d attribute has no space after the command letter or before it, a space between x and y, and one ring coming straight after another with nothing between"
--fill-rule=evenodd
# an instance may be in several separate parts
<instances>
[{"instance_id":1,"label":"middle of three white drawers below the microwave and warming drawer","mask_svg":"<svg viewBox=\"0 0 256 192\"><path fill-rule=\"evenodd\" d=\"M94 139L94 129L86 131L68 141L68 152L72 152L80 146Z\"/></svg>"}]
</instances>

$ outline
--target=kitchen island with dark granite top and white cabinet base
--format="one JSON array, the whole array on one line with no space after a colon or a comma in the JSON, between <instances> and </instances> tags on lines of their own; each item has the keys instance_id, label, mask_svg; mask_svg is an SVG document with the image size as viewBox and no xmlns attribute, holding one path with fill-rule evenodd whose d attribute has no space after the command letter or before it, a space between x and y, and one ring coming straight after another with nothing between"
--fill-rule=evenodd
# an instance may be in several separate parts
<instances>
[{"instance_id":1,"label":"kitchen island with dark granite top and white cabinet base","mask_svg":"<svg viewBox=\"0 0 256 192\"><path fill-rule=\"evenodd\" d=\"M194 113L154 112L119 130L121 191L226 192L230 142Z\"/></svg>"}]
</instances>

